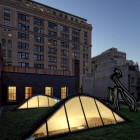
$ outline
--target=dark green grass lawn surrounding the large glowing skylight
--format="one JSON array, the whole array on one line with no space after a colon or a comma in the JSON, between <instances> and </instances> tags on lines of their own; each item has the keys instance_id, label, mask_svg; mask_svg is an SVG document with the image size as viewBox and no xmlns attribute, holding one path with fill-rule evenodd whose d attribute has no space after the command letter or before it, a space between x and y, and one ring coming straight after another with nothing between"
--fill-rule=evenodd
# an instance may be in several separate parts
<instances>
[{"instance_id":1,"label":"dark green grass lawn surrounding the large glowing skylight","mask_svg":"<svg viewBox=\"0 0 140 140\"><path fill-rule=\"evenodd\" d=\"M47 108L13 111L10 107L0 116L0 140L21 140L47 112ZM53 140L140 140L140 111L129 112L128 108L121 107L120 112L132 122L70 134Z\"/></svg>"}]
</instances>

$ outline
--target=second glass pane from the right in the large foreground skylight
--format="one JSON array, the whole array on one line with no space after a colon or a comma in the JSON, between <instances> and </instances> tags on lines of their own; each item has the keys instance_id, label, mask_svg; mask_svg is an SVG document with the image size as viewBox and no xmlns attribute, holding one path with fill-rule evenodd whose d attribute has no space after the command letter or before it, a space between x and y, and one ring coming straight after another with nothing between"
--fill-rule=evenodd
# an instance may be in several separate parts
<instances>
[{"instance_id":1,"label":"second glass pane from the right in the large foreground skylight","mask_svg":"<svg viewBox=\"0 0 140 140\"><path fill-rule=\"evenodd\" d=\"M112 114L112 110L109 109L108 107L106 107L104 104L102 104L100 101L95 100L97 103L97 106L99 108L101 117L103 119L103 122L105 125L109 125L109 124L114 124L116 123L115 118Z\"/></svg>"}]
</instances>

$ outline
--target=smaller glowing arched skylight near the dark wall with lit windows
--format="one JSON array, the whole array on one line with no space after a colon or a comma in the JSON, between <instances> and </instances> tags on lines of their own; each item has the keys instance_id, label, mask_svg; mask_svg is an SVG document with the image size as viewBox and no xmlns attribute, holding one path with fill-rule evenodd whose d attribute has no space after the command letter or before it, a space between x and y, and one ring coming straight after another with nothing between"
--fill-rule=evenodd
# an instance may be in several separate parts
<instances>
[{"instance_id":1,"label":"smaller glowing arched skylight near the dark wall with lit windows","mask_svg":"<svg viewBox=\"0 0 140 140\"><path fill-rule=\"evenodd\" d=\"M20 104L17 109L51 107L59 102L59 99L50 97L48 95L35 95L29 97L24 103Z\"/></svg>"}]
</instances>

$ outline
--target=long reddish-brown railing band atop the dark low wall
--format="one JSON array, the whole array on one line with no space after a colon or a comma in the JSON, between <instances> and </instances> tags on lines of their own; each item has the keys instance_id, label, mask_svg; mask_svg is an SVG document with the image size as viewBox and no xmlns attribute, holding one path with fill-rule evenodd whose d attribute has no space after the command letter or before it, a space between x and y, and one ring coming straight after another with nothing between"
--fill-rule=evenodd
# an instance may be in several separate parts
<instances>
[{"instance_id":1,"label":"long reddish-brown railing band atop the dark low wall","mask_svg":"<svg viewBox=\"0 0 140 140\"><path fill-rule=\"evenodd\" d=\"M65 75L71 76L71 71L63 70L48 70L31 67L17 67L17 66L2 66L2 72L16 72L16 73L32 73L32 74L50 74L50 75Z\"/></svg>"}]
</instances>

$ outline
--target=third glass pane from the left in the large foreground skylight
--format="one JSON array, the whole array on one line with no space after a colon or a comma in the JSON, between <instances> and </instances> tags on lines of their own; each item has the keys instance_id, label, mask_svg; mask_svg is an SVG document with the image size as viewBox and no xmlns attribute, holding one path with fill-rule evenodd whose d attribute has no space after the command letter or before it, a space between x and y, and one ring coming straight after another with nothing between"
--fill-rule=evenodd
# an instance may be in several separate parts
<instances>
[{"instance_id":1,"label":"third glass pane from the left in the large foreground skylight","mask_svg":"<svg viewBox=\"0 0 140 140\"><path fill-rule=\"evenodd\" d=\"M66 103L66 110L71 131L87 128L79 97L68 101Z\"/></svg>"}]
</instances>

